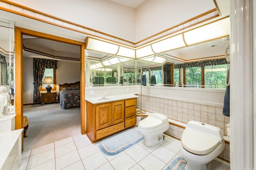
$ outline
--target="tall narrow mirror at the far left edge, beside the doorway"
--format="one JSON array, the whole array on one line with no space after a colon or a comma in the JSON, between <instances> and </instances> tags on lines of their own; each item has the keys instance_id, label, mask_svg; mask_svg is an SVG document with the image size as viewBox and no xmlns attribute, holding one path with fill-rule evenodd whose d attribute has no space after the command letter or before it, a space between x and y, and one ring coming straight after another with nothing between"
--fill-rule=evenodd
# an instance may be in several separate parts
<instances>
[{"instance_id":1,"label":"tall narrow mirror at the far left edge, beside the doorway","mask_svg":"<svg viewBox=\"0 0 256 170\"><path fill-rule=\"evenodd\" d=\"M15 113L14 21L3 18L0 18L0 72L0 111L8 115Z\"/></svg>"}]
</instances>

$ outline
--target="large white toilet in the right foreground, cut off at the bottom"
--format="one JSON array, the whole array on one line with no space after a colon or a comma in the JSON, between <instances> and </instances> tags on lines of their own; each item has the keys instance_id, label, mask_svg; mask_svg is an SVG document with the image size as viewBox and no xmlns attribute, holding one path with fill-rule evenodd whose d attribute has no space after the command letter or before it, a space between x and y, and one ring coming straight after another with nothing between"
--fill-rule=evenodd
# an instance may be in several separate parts
<instances>
[{"instance_id":1,"label":"large white toilet in the right foreground, cut off at the bottom","mask_svg":"<svg viewBox=\"0 0 256 170\"><path fill-rule=\"evenodd\" d=\"M214 160L225 147L220 128L189 121L180 140L180 153L187 163L185 170L209 170Z\"/></svg>"}]
</instances>

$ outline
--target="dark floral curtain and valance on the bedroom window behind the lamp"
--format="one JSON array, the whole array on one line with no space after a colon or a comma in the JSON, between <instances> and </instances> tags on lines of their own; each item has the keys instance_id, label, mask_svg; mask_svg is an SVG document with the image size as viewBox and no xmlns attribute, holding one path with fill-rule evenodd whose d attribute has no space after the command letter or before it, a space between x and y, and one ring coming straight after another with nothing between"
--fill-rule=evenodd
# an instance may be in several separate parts
<instances>
[{"instance_id":1,"label":"dark floral curtain and valance on the bedroom window behind the lamp","mask_svg":"<svg viewBox=\"0 0 256 170\"><path fill-rule=\"evenodd\" d=\"M45 68L54 68L57 69L57 60L48 60L48 59L33 59L33 68L34 68L34 100L33 104L40 104L40 86L42 85L42 79L44 77Z\"/></svg>"}]
</instances>

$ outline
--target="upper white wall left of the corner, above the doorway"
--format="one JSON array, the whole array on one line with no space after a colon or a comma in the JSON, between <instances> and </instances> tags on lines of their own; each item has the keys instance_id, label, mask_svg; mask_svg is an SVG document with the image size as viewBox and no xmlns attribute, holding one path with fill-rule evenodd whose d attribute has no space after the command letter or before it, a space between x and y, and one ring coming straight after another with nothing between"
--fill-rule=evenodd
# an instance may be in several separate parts
<instances>
[{"instance_id":1,"label":"upper white wall left of the corner, above the doorway","mask_svg":"<svg viewBox=\"0 0 256 170\"><path fill-rule=\"evenodd\" d=\"M135 41L135 9L128 6L108 0L11 1L109 35Z\"/></svg>"}]
</instances>

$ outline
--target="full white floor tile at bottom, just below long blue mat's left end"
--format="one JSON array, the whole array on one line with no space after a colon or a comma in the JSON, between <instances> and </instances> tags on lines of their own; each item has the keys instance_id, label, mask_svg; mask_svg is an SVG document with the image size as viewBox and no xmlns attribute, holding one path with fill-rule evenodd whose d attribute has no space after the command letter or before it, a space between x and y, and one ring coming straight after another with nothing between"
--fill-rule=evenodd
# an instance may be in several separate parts
<instances>
[{"instance_id":1,"label":"full white floor tile at bottom, just below long blue mat's left end","mask_svg":"<svg viewBox=\"0 0 256 170\"><path fill-rule=\"evenodd\" d=\"M102 152L97 152L91 156L88 156L82 159L82 161L86 170L94 170L108 162Z\"/></svg>"}]
</instances>

